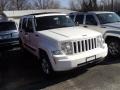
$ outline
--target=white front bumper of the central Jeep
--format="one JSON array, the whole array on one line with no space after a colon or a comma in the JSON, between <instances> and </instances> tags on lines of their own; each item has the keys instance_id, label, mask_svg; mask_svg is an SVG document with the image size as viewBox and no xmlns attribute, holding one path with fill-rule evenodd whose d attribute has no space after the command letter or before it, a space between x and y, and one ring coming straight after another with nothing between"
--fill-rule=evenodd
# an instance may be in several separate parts
<instances>
[{"instance_id":1,"label":"white front bumper of the central Jeep","mask_svg":"<svg viewBox=\"0 0 120 90\"><path fill-rule=\"evenodd\" d=\"M104 45L104 49L96 48L87 52L83 52L75 55L54 55L53 61L54 71L67 71L79 67L81 65L88 64L89 62L95 62L102 60L107 56L108 48L107 45ZM90 59L91 58L91 59ZM88 61L88 59L90 59Z\"/></svg>"}]
</instances>

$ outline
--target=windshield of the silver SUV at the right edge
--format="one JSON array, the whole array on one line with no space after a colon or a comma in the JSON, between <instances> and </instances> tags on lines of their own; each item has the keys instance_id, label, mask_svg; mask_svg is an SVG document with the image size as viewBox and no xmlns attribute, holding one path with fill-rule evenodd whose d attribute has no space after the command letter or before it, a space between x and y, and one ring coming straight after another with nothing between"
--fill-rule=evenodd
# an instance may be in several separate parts
<instances>
[{"instance_id":1,"label":"windshield of the silver SUV at the right edge","mask_svg":"<svg viewBox=\"0 0 120 90\"><path fill-rule=\"evenodd\" d=\"M120 22L120 17L116 13L97 14L101 24Z\"/></svg>"}]
</instances>

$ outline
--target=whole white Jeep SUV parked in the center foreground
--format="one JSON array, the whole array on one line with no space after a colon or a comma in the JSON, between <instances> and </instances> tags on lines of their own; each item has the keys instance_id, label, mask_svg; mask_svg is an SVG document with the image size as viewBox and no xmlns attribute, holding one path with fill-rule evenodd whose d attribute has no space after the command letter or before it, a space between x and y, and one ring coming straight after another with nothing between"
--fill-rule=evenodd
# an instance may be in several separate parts
<instances>
[{"instance_id":1,"label":"whole white Jeep SUV parked in the center foreground","mask_svg":"<svg viewBox=\"0 0 120 90\"><path fill-rule=\"evenodd\" d=\"M46 75L100 61L108 52L100 33L76 27L66 14L23 16L19 32L22 47L40 60Z\"/></svg>"}]
</instances>

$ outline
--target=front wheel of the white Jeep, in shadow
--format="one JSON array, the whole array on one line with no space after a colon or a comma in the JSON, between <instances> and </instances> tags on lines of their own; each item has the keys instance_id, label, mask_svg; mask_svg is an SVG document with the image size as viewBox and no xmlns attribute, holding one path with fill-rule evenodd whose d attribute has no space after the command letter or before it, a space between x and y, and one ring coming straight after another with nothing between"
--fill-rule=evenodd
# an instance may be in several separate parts
<instances>
[{"instance_id":1,"label":"front wheel of the white Jeep, in shadow","mask_svg":"<svg viewBox=\"0 0 120 90\"><path fill-rule=\"evenodd\" d=\"M52 77L55 74L48 55L44 51L40 52L40 64L45 77Z\"/></svg>"}]
</instances>

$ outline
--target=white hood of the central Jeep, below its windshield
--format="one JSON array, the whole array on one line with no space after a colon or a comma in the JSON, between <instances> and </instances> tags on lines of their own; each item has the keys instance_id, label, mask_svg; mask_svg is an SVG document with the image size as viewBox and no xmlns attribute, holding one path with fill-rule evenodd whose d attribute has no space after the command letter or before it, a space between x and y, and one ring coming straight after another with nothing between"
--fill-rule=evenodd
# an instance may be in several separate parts
<instances>
[{"instance_id":1,"label":"white hood of the central Jeep, below its windshield","mask_svg":"<svg viewBox=\"0 0 120 90\"><path fill-rule=\"evenodd\" d=\"M83 39L89 37L96 37L100 33L86 29L83 27L67 27L67 28L57 28L45 31L39 31L39 33L46 35L48 37L54 38L56 40L70 40L70 39Z\"/></svg>"}]
</instances>

